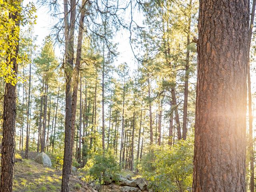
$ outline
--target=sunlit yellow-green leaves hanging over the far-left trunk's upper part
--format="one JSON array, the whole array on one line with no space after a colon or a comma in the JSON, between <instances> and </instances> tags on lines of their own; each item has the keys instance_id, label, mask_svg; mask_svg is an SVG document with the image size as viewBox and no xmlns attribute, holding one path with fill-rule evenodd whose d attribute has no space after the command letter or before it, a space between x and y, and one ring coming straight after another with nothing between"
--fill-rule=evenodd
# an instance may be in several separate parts
<instances>
[{"instance_id":1,"label":"sunlit yellow-green leaves hanging over the far-left trunk's upper part","mask_svg":"<svg viewBox=\"0 0 256 192\"><path fill-rule=\"evenodd\" d=\"M22 1L0 0L0 78L15 85L20 77L13 69L14 59L19 64L28 60L26 55L16 54L20 38L20 25L34 24L34 4L22 5ZM15 16L13 19L11 16Z\"/></svg>"}]
</instances>

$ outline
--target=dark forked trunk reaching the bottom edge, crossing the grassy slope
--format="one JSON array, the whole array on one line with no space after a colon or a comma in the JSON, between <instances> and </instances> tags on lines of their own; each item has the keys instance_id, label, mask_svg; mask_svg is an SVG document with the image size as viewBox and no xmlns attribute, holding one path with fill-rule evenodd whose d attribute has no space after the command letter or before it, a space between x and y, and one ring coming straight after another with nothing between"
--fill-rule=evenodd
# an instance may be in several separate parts
<instances>
[{"instance_id":1,"label":"dark forked trunk reaching the bottom edge, crossing the grassy slope","mask_svg":"<svg viewBox=\"0 0 256 192\"><path fill-rule=\"evenodd\" d=\"M70 24L68 18L70 15ZM76 21L76 0L70 0L70 11L68 0L64 0L64 36L65 36L65 61L64 72L66 76L66 109L65 109L65 139L64 158L62 168L61 192L69 192L68 183L72 167L72 71L74 66L74 30Z\"/></svg>"}]
</instances>

